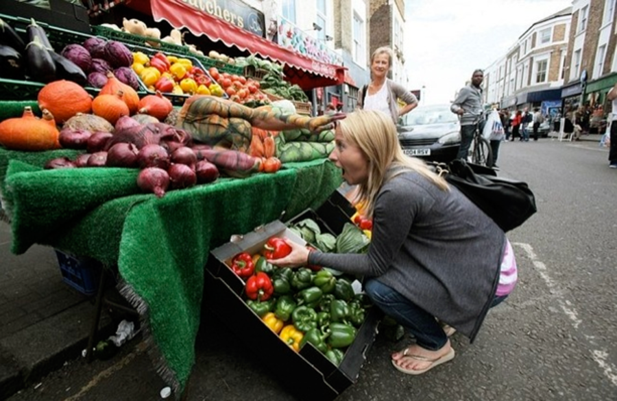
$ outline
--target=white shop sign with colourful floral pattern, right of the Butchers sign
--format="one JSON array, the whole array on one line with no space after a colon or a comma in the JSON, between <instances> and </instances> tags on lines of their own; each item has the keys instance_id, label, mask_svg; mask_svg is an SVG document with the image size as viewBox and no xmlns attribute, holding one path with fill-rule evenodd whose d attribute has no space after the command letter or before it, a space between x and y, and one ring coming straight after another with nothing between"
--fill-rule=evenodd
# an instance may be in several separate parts
<instances>
[{"instance_id":1,"label":"white shop sign with colourful floral pattern, right of the Butchers sign","mask_svg":"<svg viewBox=\"0 0 617 401\"><path fill-rule=\"evenodd\" d=\"M326 46L325 40L313 38L282 16L278 16L278 44L325 64L343 65L339 53ZM334 74L334 69L330 70L328 75Z\"/></svg>"}]
</instances>

